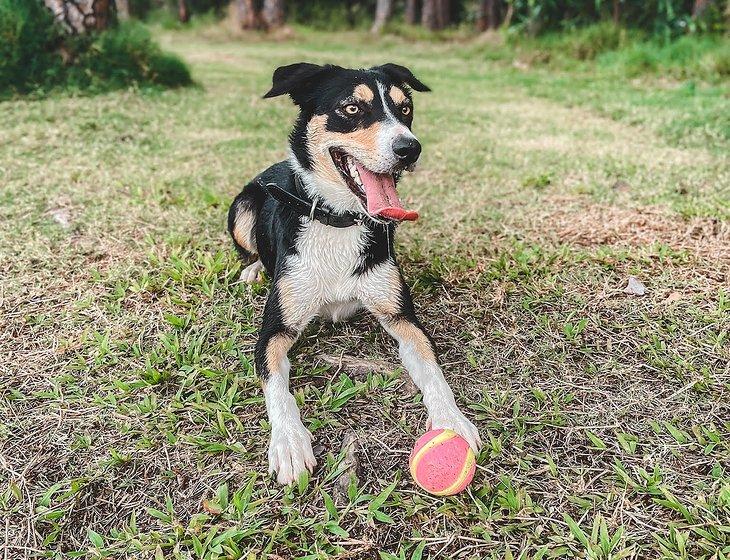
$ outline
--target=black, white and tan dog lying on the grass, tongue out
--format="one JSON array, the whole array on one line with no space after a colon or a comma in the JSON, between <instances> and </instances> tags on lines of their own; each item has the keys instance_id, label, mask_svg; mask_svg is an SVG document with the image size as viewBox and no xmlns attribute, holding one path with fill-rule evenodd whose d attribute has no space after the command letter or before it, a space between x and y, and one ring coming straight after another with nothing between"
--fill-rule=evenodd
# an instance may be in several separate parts
<instances>
[{"instance_id":1,"label":"black, white and tan dog lying on the grass, tongue out","mask_svg":"<svg viewBox=\"0 0 730 560\"><path fill-rule=\"evenodd\" d=\"M431 338L413 310L393 254L396 224L415 220L396 192L421 145L411 132L411 90L429 91L403 66L367 70L299 63L277 68L264 97L288 94L299 107L291 155L236 197L228 229L250 264L272 278L256 370L271 423L269 472L295 481L316 464L312 435L289 391L287 352L317 316L340 321L367 309L398 341L423 393L431 428L450 428L476 451L479 433L454 401Z\"/></svg>"}]
</instances>

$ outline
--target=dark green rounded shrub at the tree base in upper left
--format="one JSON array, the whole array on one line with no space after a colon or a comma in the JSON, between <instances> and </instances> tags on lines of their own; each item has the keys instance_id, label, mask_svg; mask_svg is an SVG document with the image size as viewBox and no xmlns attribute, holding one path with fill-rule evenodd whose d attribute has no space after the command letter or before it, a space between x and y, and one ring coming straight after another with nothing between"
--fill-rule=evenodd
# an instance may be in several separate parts
<instances>
[{"instance_id":1,"label":"dark green rounded shrub at the tree base in upper left","mask_svg":"<svg viewBox=\"0 0 730 560\"><path fill-rule=\"evenodd\" d=\"M163 52L140 23L72 37L40 0L0 0L0 95L191 82L185 63Z\"/></svg>"}]
</instances>

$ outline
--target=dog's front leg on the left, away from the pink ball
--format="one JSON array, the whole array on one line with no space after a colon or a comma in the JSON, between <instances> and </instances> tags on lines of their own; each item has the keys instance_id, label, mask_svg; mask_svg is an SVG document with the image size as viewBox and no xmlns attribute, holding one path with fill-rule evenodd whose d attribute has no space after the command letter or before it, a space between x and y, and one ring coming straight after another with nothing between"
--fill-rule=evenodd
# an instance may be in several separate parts
<instances>
[{"instance_id":1,"label":"dog's front leg on the left, away from the pink ball","mask_svg":"<svg viewBox=\"0 0 730 560\"><path fill-rule=\"evenodd\" d=\"M255 358L271 424L269 473L276 472L279 483L291 484L305 470L312 472L317 462L312 451L312 434L302 423L294 395L289 391L290 364L287 357L311 316L301 308L288 309L291 305L287 303L290 302L282 302L283 286L285 283L282 285L281 282L272 286L264 309Z\"/></svg>"}]
</instances>

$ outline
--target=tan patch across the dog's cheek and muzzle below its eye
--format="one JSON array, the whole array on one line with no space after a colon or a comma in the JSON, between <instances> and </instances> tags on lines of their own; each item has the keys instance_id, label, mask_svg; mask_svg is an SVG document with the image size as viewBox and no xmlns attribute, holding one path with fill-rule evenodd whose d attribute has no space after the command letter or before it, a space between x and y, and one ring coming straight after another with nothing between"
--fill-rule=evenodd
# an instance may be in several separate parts
<instances>
[{"instance_id":1,"label":"tan patch across the dog's cheek and muzzle below its eye","mask_svg":"<svg viewBox=\"0 0 730 560\"><path fill-rule=\"evenodd\" d=\"M380 122L352 132L327 130L327 115L316 115L307 124L307 147L312 155L314 172L332 182L342 181L330 155L330 148L342 148L361 161L374 157L378 151Z\"/></svg>"}]
</instances>

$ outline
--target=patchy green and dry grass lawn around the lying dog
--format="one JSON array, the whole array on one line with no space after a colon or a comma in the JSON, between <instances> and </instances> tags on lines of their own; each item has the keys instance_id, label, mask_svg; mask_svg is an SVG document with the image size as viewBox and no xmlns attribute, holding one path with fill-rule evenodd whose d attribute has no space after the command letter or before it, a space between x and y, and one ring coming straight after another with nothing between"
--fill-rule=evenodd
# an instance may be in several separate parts
<instances>
[{"instance_id":1,"label":"patchy green and dry grass lawn around the lying dog","mask_svg":"<svg viewBox=\"0 0 730 560\"><path fill-rule=\"evenodd\" d=\"M298 33L158 33L202 88L2 104L4 557L728 556L727 85ZM299 59L434 90L399 254L486 442L459 496L410 480L424 410L364 316L292 353L319 469L265 475L267 287L237 283L225 212L286 155L294 108L260 96Z\"/></svg>"}]
</instances>

